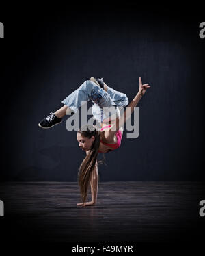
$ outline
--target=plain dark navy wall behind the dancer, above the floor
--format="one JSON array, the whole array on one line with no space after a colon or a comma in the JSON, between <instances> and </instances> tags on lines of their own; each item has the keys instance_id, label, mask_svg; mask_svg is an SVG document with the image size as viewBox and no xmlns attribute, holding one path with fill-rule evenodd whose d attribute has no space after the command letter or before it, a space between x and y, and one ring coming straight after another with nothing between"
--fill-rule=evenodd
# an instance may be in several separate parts
<instances>
[{"instance_id":1,"label":"plain dark navy wall behind the dancer, above the floor","mask_svg":"<svg viewBox=\"0 0 205 256\"><path fill-rule=\"evenodd\" d=\"M200 12L135 4L31 9L1 21L1 181L77 181L85 153L76 132L66 130L66 118L49 130L38 122L92 76L130 101L139 76L152 86L138 105L139 137L124 132L99 166L100 181L204 179L205 39L193 15Z\"/></svg>"}]
</instances>

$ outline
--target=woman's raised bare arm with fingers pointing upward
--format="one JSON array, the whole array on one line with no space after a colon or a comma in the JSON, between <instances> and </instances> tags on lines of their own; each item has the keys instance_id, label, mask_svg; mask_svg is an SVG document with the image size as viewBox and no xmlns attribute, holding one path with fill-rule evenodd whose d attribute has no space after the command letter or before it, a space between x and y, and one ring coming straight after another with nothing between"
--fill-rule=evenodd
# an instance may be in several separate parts
<instances>
[{"instance_id":1,"label":"woman's raised bare arm with fingers pointing upward","mask_svg":"<svg viewBox=\"0 0 205 256\"><path fill-rule=\"evenodd\" d=\"M116 131L118 131L120 127L124 125L126 120L131 117L131 114L139 103L141 97L145 94L146 89L150 87L151 86L149 86L149 84L142 84L141 77L139 77L139 91L131 103L129 103L128 107L126 107L126 110L123 112L122 116L120 118L116 118L116 122L114 123L113 127L111 127L111 130L107 131L107 133L105 131L106 140L113 140L113 136L115 136Z\"/></svg>"}]
</instances>

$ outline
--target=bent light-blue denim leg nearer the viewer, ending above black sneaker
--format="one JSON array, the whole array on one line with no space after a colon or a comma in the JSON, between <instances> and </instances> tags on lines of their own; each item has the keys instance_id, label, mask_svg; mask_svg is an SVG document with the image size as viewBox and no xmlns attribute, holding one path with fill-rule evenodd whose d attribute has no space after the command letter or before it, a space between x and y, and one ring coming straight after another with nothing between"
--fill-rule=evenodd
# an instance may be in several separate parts
<instances>
[{"instance_id":1,"label":"bent light-blue denim leg nearer the viewer, ending above black sneaker","mask_svg":"<svg viewBox=\"0 0 205 256\"><path fill-rule=\"evenodd\" d=\"M81 101L90 101L90 99L100 107L111 104L109 94L90 80L84 81L77 90L69 94L61 103L64 103L76 113L81 107Z\"/></svg>"}]
</instances>

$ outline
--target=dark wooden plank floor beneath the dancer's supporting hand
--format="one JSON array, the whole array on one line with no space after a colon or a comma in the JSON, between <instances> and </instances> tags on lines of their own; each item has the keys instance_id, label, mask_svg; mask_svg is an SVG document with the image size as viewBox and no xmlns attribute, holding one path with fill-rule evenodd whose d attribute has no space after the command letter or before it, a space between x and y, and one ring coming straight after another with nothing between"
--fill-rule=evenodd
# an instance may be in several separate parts
<instances>
[{"instance_id":1,"label":"dark wooden plank floor beneath the dancer's supporting hand","mask_svg":"<svg viewBox=\"0 0 205 256\"><path fill-rule=\"evenodd\" d=\"M97 205L77 207L74 182L0 183L1 227L5 239L24 242L191 241L204 228L204 185L105 182L99 184Z\"/></svg>"}]
</instances>

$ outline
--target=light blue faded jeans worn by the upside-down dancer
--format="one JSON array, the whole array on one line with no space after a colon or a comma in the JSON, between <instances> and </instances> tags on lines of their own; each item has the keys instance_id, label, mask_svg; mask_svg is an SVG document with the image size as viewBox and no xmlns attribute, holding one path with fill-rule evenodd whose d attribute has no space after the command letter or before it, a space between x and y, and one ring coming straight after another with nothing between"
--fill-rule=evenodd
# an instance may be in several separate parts
<instances>
[{"instance_id":1,"label":"light blue faded jeans worn by the upside-down dancer","mask_svg":"<svg viewBox=\"0 0 205 256\"><path fill-rule=\"evenodd\" d=\"M102 123L107 119L107 112L103 107L111 107L109 116L113 114L120 114L118 107L126 107L128 105L128 97L122 92L118 92L113 88L107 86L107 92L93 81L87 80L77 90L72 92L61 103L70 107L74 113L81 107L81 101L90 101L94 103L92 105L93 118Z\"/></svg>"}]
</instances>

